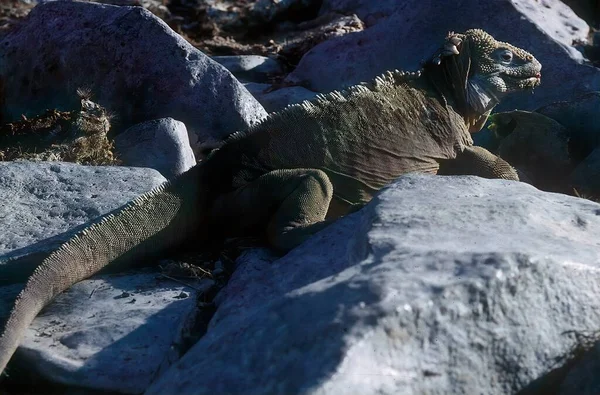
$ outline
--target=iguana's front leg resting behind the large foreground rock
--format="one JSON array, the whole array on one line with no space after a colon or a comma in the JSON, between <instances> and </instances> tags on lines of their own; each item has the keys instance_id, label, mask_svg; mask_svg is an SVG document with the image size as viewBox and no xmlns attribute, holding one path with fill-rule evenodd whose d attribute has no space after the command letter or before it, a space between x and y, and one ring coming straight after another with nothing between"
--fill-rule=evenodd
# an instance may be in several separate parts
<instances>
[{"instance_id":1,"label":"iguana's front leg resting behind the large foreground rock","mask_svg":"<svg viewBox=\"0 0 600 395\"><path fill-rule=\"evenodd\" d=\"M519 174L507 161L482 147L465 148L456 158L442 161L439 175L471 175L520 181Z\"/></svg>"}]
</instances>

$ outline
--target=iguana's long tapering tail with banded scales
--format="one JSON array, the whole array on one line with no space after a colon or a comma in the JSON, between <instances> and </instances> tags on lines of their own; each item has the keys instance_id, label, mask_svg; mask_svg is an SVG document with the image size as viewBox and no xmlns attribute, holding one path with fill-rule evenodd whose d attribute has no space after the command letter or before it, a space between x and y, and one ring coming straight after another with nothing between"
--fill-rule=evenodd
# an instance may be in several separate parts
<instances>
[{"instance_id":1,"label":"iguana's long tapering tail with banded scales","mask_svg":"<svg viewBox=\"0 0 600 395\"><path fill-rule=\"evenodd\" d=\"M42 262L17 297L0 336L0 372L33 319L58 294L117 258L143 259L196 233L203 217L203 167L197 165L106 215Z\"/></svg>"}]
</instances>

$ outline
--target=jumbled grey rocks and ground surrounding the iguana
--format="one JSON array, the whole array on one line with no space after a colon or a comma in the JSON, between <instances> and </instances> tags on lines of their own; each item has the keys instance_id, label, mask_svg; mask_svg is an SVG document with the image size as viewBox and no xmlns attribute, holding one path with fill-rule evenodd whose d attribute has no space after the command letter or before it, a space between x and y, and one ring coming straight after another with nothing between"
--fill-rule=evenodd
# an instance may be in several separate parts
<instances>
[{"instance_id":1,"label":"jumbled grey rocks and ground surrounding the iguana","mask_svg":"<svg viewBox=\"0 0 600 395\"><path fill-rule=\"evenodd\" d=\"M598 2L101 3L149 12L0 2L0 317L14 279L100 215L267 112L417 69L450 30L543 64L476 135L537 189L409 175L284 257L228 240L94 276L36 318L0 391L600 392L600 205L565 195L600 196ZM91 159L70 132L82 100L102 109ZM31 125L44 145L15 148Z\"/></svg>"}]
</instances>

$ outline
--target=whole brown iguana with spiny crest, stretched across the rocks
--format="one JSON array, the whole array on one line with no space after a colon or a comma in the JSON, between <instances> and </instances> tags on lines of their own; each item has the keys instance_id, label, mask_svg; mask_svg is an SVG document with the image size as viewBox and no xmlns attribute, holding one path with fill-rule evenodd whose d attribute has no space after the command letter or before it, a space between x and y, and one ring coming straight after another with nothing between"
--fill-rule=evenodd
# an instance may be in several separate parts
<instances>
[{"instance_id":1,"label":"whole brown iguana with spiny crest, stretched across the rocks","mask_svg":"<svg viewBox=\"0 0 600 395\"><path fill-rule=\"evenodd\" d=\"M215 236L261 234L287 251L409 172L449 173L449 166L518 180L507 162L474 147L470 132L507 93L537 86L540 70L531 54L482 30L450 33L418 72L390 71L234 133L204 162L90 225L41 263L0 337L0 371L44 306L114 262Z\"/></svg>"}]
</instances>

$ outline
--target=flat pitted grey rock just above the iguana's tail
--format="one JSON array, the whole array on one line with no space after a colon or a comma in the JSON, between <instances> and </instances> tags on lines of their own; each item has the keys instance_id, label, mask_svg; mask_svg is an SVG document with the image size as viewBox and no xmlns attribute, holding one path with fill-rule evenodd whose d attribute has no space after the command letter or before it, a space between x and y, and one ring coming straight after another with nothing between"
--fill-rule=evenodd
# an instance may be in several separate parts
<instances>
[{"instance_id":1,"label":"flat pitted grey rock just above the iguana's tail","mask_svg":"<svg viewBox=\"0 0 600 395\"><path fill-rule=\"evenodd\" d=\"M0 284L14 282L7 272L24 278L83 224L164 181L152 169L0 162L0 264L9 265Z\"/></svg>"}]
</instances>

